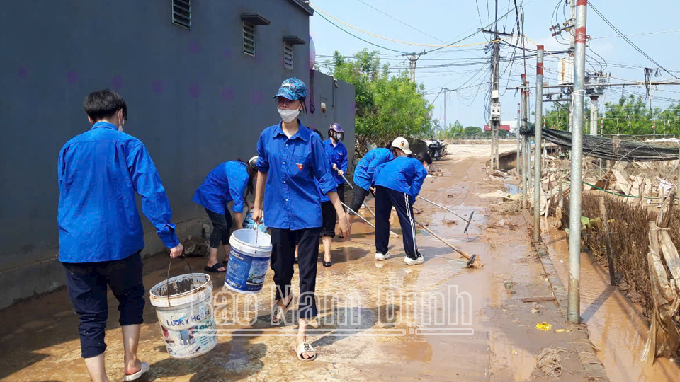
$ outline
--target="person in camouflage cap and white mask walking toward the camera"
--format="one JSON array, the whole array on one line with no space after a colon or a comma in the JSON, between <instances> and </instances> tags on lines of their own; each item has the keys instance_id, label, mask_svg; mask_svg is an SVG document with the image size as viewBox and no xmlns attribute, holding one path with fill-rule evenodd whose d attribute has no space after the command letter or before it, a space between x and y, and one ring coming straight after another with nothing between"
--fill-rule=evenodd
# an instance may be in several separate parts
<instances>
[{"instance_id":1,"label":"person in camouflage cap and white mask walking toward the camera","mask_svg":"<svg viewBox=\"0 0 680 382\"><path fill-rule=\"evenodd\" d=\"M259 222L264 214L264 222L271 230L272 247L276 250L273 268L277 302L271 317L274 324L283 322L285 312L293 301L290 284L293 279L295 241L298 236L300 238L300 325L295 352L301 361L312 361L317 354L307 342L306 333L309 321L317 316L314 291L322 226L319 189L322 194L328 195L333 204L344 237L349 237L350 228L338 199L324 145L297 118L305 109L306 97L307 86L297 78L283 81L273 97L277 100L282 120L264 129L257 142L259 172L253 219Z\"/></svg>"}]
</instances>

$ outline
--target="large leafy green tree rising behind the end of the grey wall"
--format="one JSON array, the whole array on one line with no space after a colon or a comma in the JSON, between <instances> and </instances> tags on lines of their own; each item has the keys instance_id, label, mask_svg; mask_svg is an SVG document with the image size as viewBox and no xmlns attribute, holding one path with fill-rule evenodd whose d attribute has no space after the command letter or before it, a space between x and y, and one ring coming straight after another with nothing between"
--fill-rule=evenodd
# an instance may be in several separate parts
<instances>
[{"instance_id":1,"label":"large leafy green tree rising behind the end of the grey wall","mask_svg":"<svg viewBox=\"0 0 680 382\"><path fill-rule=\"evenodd\" d=\"M424 87L409 80L406 71L390 75L390 66L381 65L378 51L361 50L347 60L333 54L336 79L356 88L355 150L361 156L370 144L382 145L395 137L430 137L435 132L433 106L424 96Z\"/></svg>"}]
</instances>

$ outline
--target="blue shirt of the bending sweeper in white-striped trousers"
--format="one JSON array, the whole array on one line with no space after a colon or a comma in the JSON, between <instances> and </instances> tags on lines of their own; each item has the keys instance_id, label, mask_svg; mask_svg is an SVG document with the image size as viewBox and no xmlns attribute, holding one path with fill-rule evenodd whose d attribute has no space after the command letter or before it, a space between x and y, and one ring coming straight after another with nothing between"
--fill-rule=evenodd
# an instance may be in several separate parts
<instances>
[{"instance_id":1,"label":"blue shirt of the bending sweeper in white-striped trousers","mask_svg":"<svg viewBox=\"0 0 680 382\"><path fill-rule=\"evenodd\" d=\"M373 184L404 192L416 199L427 176L423 163L416 158L398 156L375 168Z\"/></svg>"}]
</instances>

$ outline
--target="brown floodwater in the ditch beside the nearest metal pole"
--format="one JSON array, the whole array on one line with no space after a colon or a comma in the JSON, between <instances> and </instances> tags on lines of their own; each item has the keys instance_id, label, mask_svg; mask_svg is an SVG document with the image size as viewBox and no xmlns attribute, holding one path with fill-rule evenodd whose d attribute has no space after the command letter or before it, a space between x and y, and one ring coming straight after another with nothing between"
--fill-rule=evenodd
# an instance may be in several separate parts
<instances>
[{"instance_id":1,"label":"brown floodwater in the ditch beside the nearest metal pole","mask_svg":"<svg viewBox=\"0 0 680 382\"><path fill-rule=\"evenodd\" d=\"M544 242L562 283L569 277L569 247L564 231L551 229ZM649 328L647 320L616 287L609 285L609 273L581 256L581 317L588 324L590 340L611 381L680 381L676 359L657 358L653 365L640 360Z\"/></svg>"}]
</instances>

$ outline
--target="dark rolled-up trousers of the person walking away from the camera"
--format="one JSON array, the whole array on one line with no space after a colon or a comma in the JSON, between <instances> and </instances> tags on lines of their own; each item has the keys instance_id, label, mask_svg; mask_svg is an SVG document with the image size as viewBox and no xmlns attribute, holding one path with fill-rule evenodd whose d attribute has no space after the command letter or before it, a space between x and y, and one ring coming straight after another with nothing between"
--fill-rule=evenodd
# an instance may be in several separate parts
<instances>
[{"instance_id":1,"label":"dark rolled-up trousers of the person walking away from the camera","mask_svg":"<svg viewBox=\"0 0 680 382\"><path fill-rule=\"evenodd\" d=\"M120 326L144 322L144 284L139 252L123 260L62 262L62 265L66 268L69 297L78 313L81 357L96 357L106 350L107 285L118 299Z\"/></svg>"}]
</instances>

